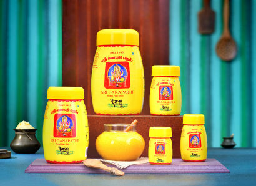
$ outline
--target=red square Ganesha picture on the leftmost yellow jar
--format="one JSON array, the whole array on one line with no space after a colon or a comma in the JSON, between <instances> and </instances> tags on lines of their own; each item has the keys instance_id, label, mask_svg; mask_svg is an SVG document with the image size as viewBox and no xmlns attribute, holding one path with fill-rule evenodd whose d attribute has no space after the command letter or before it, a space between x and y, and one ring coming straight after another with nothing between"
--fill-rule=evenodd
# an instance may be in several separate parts
<instances>
[{"instance_id":1,"label":"red square Ganesha picture on the leftmost yellow jar","mask_svg":"<svg viewBox=\"0 0 256 186\"><path fill-rule=\"evenodd\" d=\"M76 137L76 117L74 114L54 116L54 137Z\"/></svg>"}]
</instances>

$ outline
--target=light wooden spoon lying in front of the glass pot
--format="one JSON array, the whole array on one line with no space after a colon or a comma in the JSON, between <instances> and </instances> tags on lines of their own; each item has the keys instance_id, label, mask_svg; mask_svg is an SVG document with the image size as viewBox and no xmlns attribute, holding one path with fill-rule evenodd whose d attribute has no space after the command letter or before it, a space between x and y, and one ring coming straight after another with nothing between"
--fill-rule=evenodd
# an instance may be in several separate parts
<instances>
[{"instance_id":1,"label":"light wooden spoon lying in front of the glass pot","mask_svg":"<svg viewBox=\"0 0 256 186\"><path fill-rule=\"evenodd\" d=\"M107 167L107 165L102 164L101 161L99 160L94 160L94 159L86 159L83 161L84 165L86 165L87 167L92 167L92 168L97 168L97 169L102 169L102 170L106 170L107 172L111 172L111 174L114 175L124 175L124 172L122 172L121 170L116 170L113 173L113 168L111 167ZM112 169L112 170L111 170Z\"/></svg>"}]
</instances>

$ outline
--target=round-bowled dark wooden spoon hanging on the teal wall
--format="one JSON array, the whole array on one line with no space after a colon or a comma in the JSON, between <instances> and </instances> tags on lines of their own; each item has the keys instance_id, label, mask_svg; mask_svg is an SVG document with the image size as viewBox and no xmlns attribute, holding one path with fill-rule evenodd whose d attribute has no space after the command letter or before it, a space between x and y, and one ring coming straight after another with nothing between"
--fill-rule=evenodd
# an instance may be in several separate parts
<instances>
[{"instance_id":1,"label":"round-bowled dark wooden spoon hanging on the teal wall","mask_svg":"<svg viewBox=\"0 0 256 186\"><path fill-rule=\"evenodd\" d=\"M224 31L215 50L220 59L230 61L237 55L237 46L229 31L229 0L224 0L223 21Z\"/></svg>"}]
</instances>

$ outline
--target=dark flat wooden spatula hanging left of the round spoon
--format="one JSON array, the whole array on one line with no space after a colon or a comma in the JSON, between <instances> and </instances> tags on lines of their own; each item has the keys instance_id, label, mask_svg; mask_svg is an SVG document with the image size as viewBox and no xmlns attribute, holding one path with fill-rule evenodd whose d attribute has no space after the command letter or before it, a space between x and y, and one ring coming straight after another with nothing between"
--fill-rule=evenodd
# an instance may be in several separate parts
<instances>
[{"instance_id":1,"label":"dark flat wooden spatula hanging left of the round spoon","mask_svg":"<svg viewBox=\"0 0 256 186\"><path fill-rule=\"evenodd\" d=\"M204 0L204 8L198 13L200 34L212 34L215 27L215 12L210 8L210 0Z\"/></svg>"}]
</instances>

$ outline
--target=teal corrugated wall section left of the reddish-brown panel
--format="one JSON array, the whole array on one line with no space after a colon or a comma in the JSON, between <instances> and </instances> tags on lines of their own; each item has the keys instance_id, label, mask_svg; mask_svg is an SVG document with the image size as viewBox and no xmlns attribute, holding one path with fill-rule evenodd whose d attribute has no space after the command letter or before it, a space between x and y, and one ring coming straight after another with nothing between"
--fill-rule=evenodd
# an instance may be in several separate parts
<instances>
[{"instance_id":1,"label":"teal corrugated wall section left of the reddish-brown panel","mask_svg":"<svg viewBox=\"0 0 256 186\"><path fill-rule=\"evenodd\" d=\"M0 146L22 120L42 144L47 88L62 85L62 1L1 0L0 8Z\"/></svg>"}]
</instances>

